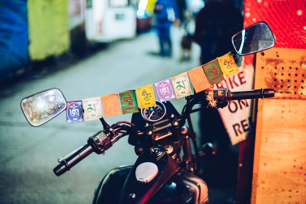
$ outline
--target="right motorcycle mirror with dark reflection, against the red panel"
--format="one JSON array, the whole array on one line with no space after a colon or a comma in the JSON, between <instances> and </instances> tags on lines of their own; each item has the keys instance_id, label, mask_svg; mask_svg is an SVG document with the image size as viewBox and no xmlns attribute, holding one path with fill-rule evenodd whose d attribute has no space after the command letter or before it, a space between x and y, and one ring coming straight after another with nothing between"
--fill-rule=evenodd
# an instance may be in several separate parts
<instances>
[{"instance_id":1,"label":"right motorcycle mirror with dark reflection, against the red panel","mask_svg":"<svg viewBox=\"0 0 306 204\"><path fill-rule=\"evenodd\" d=\"M232 37L238 55L249 55L269 49L275 45L275 38L266 22L257 22Z\"/></svg>"}]
</instances>

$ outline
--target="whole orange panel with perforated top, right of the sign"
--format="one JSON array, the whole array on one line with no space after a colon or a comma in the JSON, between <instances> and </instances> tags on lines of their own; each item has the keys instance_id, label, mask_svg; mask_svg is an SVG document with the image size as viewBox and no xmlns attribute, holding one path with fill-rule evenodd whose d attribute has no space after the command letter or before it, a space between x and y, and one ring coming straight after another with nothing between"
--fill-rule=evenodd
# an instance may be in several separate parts
<instances>
[{"instance_id":1,"label":"whole orange panel with perforated top, right of the sign","mask_svg":"<svg viewBox=\"0 0 306 204\"><path fill-rule=\"evenodd\" d=\"M258 101L252 204L306 203L306 50L273 48L256 56Z\"/></svg>"}]
</instances>

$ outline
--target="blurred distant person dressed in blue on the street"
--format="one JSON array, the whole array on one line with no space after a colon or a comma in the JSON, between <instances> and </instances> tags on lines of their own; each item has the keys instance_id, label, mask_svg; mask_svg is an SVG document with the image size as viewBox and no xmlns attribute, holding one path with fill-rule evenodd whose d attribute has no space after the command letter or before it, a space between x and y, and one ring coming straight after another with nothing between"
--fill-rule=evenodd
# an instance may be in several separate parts
<instances>
[{"instance_id":1,"label":"blurred distant person dressed in blue on the street","mask_svg":"<svg viewBox=\"0 0 306 204\"><path fill-rule=\"evenodd\" d=\"M160 56L172 56L170 28L172 23L179 25L179 12L176 0L157 0L154 7L156 29L159 39Z\"/></svg>"}]
</instances>

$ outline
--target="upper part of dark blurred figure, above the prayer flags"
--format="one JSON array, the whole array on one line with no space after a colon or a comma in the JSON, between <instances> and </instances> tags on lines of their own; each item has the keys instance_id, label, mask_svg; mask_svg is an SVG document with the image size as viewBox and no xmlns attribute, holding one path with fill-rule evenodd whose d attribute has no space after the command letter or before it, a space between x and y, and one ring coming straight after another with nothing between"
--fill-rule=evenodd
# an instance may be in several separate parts
<instances>
[{"instance_id":1,"label":"upper part of dark blurred figure, above the prayer flags","mask_svg":"<svg viewBox=\"0 0 306 204\"><path fill-rule=\"evenodd\" d=\"M207 63L233 50L232 36L243 28L243 17L233 0L207 0L198 12L194 40Z\"/></svg>"}]
</instances>

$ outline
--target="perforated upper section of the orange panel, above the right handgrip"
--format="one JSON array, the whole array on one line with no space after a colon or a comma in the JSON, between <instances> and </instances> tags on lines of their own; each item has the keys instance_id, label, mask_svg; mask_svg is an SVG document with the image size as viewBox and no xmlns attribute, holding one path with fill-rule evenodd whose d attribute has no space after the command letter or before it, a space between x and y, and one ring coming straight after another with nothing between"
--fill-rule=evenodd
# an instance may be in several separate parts
<instances>
[{"instance_id":1,"label":"perforated upper section of the orange panel, above the right handgrip","mask_svg":"<svg viewBox=\"0 0 306 204\"><path fill-rule=\"evenodd\" d=\"M256 55L256 86L294 98L306 95L306 49L273 48Z\"/></svg>"}]
</instances>

